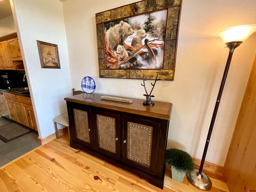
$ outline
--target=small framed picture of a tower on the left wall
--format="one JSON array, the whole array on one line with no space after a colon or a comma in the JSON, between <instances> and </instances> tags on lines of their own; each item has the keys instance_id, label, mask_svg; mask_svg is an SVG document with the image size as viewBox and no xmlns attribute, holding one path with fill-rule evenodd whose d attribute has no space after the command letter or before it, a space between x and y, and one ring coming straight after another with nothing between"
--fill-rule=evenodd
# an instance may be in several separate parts
<instances>
[{"instance_id":1,"label":"small framed picture of a tower on the left wall","mask_svg":"<svg viewBox=\"0 0 256 192\"><path fill-rule=\"evenodd\" d=\"M38 46L41 68L60 69L58 45L38 40L36 40L36 42Z\"/></svg>"}]
</instances>

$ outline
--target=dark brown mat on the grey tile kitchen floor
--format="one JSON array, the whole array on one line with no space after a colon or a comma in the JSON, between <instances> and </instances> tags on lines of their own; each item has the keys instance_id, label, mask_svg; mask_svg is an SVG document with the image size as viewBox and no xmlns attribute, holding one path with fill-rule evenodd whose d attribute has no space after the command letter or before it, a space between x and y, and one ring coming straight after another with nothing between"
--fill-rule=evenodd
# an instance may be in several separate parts
<instances>
[{"instance_id":1,"label":"dark brown mat on the grey tile kitchen floor","mask_svg":"<svg viewBox=\"0 0 256 192\"><path fill-rule=\"evenodd\" d=\"M4 126L0 126L0 139L7 143L32 131L34 130L18 123L10 123Z\"/></svg>"}]
</instances>

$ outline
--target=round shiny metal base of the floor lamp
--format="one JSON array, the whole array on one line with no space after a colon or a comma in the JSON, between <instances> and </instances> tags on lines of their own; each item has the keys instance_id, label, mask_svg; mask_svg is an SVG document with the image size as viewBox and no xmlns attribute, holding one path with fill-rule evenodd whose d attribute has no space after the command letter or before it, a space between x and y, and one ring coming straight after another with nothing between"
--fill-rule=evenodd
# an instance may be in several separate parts
<instances>
[{"instance_id":1,"label":"round shiny metal base of the floor lamp","mask_svg":"<svg viewBox=\"0 0 256 192\"><path fill-rule=\"evenodd\" d=\"M199 170L194 169L190 173L187 173L188 180L190 183L192 183L195 187L208 191L212 188L212 182L210 178L204 174L203 172L201 174L198 174Z\"/></svg>"}]
</instances>

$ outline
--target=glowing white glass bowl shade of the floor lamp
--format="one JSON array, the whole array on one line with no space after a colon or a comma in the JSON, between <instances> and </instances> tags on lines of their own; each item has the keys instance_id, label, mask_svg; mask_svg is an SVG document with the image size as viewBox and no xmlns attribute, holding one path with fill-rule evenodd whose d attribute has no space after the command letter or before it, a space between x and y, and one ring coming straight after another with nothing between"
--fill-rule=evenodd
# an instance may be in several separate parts
<instances>
[{"instance_id":1,"label":"glowing white glass bowl shade of the floor lamp","mask_svg":"<svg viewBox=\"0 0 256 192\"><path fill-rule=\"evenodd\" d=\"M256 24L227 28L218 32L217 35L222 38L224 43L234 41L244 42L254 32L256 32Z\"/></svg>"}]
</instances>

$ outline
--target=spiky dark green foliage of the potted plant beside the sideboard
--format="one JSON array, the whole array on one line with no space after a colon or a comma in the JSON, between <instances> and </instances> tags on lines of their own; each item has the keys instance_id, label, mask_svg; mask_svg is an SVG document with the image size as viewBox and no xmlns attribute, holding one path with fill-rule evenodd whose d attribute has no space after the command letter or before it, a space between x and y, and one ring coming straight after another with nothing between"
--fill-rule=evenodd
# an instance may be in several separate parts
<instances>
[{"instance_id":1,"label":"spiky dark green foliage of the potted plant beside the sideboard","mask_svg":"<svg viewBox=\"0 0 256 192\"><path fill-rule=\"evenodd\" d=\"M190 172L194 169L190 154L180 149L170 148L166 150L164 162L169 166L175 166L180 172Z\"/></svg>"}]
</instances>

